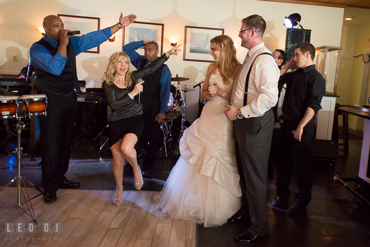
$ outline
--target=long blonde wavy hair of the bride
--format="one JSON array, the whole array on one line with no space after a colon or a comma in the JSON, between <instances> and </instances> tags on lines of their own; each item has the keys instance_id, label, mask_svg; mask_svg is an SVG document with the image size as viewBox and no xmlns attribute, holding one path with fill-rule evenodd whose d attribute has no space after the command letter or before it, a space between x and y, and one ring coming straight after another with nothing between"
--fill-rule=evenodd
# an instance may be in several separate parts
<instances>
[{"instance_id":1,"label":"long blonde wavy hair of the bride","mask_svg":"<svg viewBox=\"0 0 370 247\"><path fill-rule=\"evenodd\" d=\"M234 42L228 35L215 36L210 42L216 50L220 51L220 58L211 73L215 72L216 69L222 68L225 75L223 82L225 85L229 85L231 74L239 64L239 61L236 59Z\"/></svg>"}]
</instances>

